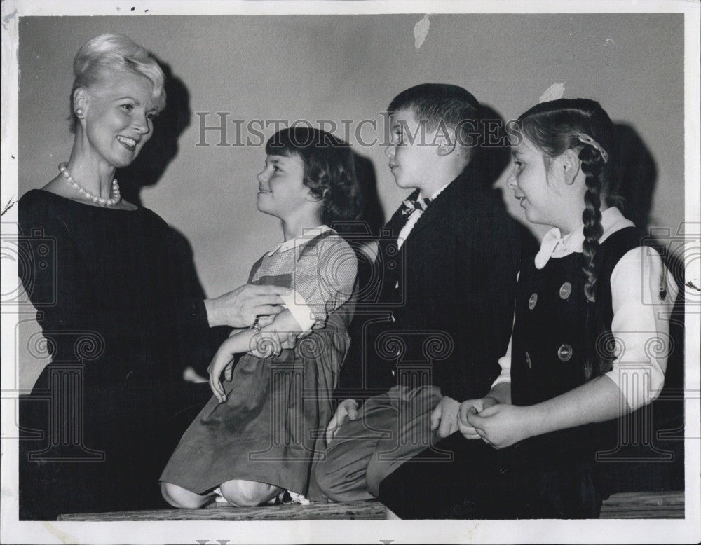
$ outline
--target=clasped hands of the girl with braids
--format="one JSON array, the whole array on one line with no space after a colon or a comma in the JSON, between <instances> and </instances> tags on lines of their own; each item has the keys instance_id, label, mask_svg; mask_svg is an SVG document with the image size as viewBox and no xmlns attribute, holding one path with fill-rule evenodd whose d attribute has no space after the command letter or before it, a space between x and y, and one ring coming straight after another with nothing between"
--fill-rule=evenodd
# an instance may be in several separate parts
<instances>
[{"instance_id":1,"label":"clasped hands of the girl with braids","mask_svg":"<svg viewBox=\"0 0 701 545\"><path fill-rule=\"evenodd\" d=\"M468 425L494 448L506 448L531 435L527 407L496 403L479 414L468 409L467 420Z\"/></svg>"}]
</instances>

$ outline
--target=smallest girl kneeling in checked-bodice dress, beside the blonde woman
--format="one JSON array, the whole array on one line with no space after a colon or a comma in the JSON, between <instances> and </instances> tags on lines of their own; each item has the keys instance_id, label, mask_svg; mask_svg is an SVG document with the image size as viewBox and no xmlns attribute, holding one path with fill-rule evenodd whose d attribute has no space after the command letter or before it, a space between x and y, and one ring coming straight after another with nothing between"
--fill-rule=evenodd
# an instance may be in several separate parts
<instances>
[{"instance_id":1,"label":"smallest girl kneeling in checked-bodice dress, beside the blonde woman","mask_svg":"<svg viewBox=\"0 0 701 545\"><path fill-rule=\"evenodd\" d=\"M315 442L332 416L349 344L334 311L351 297L357 262L327 224L360 211L352 152L332 134L296 127L273 135L266 153L257 207L280 219L285 242L253 265L249 282L290 294L283 312L234 331L212 360L214 396L161 476L163 497L176 507L202 506L216 488L235 506L284 490L307 495ZM294 349L284 347L289 334L301 336Z\"/></svg>"}]
</instances>

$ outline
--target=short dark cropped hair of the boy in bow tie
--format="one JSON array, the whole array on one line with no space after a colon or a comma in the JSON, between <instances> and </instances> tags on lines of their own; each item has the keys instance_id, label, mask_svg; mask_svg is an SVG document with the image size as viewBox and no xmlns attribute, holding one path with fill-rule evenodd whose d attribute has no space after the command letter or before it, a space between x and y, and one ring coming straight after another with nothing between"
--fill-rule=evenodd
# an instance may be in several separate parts
<instances>
[{"instance_id":1,"label":"short dark cropped hair of the boy in bow tie","mask_svg":"<svg viewBox=\"0 0 701 545\"><path fill-rule=\"evenodd\" d=\"M427 130L437 130L440 125L454 130L458 145L472 147L478 144L475 132L479 127L479 102L458 85L415 85L394 97L388 112L403 109L411 109L416 120L426 123Z\"/></svg>"}]
</instances>

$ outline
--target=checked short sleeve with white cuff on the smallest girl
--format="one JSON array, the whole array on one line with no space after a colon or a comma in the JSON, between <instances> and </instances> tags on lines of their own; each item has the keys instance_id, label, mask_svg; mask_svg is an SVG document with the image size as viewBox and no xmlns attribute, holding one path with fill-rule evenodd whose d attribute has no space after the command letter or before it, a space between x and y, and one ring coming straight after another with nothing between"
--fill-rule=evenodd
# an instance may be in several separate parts
<instances>
[{"instance_id":1,"label":"checked short sleeve with white cuff on the smallest girl","mask_svg":"<svg viewBox=\"0 0 701 545\"><path fill-rule=\"evenodd\" d=\"M358 261L348 242L339 235L322 237L315 244L294 248L292 293L283 296L303 332L323 326L330 312L353 294Z\"/></svg>"}]
</instances>

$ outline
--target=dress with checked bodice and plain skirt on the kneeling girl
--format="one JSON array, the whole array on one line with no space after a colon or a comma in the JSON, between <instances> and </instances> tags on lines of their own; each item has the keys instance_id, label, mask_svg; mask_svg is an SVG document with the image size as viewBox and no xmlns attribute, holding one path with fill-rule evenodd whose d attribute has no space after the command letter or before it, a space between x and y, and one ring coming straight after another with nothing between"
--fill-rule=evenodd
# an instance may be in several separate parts
<instances>
[{"instance_id":1,"label":"dress with checked bodice and plain skirt on the kneeling girl","mask_svg":"<svg viewBox=\"0 0 701 545\"><path fill-rule=\"evenodd\" d=\"M292 288L315 324L278 356L240 354L231 382L223 382L226 402L212 396L161 481L203 493L244 479L308 495L317 441L332 418L330 396L350 345L357 263L332 230L299 238L262 256L249 282Z\"/></svg>"}]
</instances>

